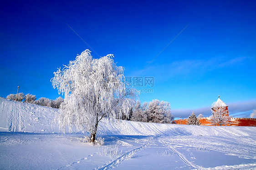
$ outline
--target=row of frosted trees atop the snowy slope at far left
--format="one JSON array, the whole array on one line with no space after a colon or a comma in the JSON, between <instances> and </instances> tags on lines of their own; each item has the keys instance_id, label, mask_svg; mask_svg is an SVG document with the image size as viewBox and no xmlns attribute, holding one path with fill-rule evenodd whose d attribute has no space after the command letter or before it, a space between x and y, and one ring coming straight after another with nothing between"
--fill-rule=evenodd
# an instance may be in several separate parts
<instances>
[{"instance_id":1,"label":"row of frosted trees atop the snowy slope at far left","mask_svg":"<svg viewBox=\"0 0 256 170\"><path fill-rule=\"evenodd\" d=\"M16 94L7 95L6 99L16 100ZM45 97L41 97L38 100L36 100L36 95L31 95L31 94L24 95L23 93L19 93L17 95L17 101L59 109L64 99L61 97L58 97L55 100L51 100Z\"/></svg>"}]
</instances>

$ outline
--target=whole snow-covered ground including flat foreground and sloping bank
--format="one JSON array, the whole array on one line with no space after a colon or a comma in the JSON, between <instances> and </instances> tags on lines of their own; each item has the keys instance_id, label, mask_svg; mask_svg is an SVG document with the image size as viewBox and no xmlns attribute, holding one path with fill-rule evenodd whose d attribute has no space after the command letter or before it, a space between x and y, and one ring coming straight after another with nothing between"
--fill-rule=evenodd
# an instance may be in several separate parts
<instances>
[{"instance_id":1,"label":"whole snow-covered ground including flat foreground and sloping bank","mask_svg":"<svg viewBox=\"0 0 256 170\"><path fill-rule=\"evenodd\" d=\"M56 112L0 99L1 170L256 169L256 127L105 119L97 135L105 144L93 146L81 142L87 134L58 134Z\"/></svg>"}]
</instances>

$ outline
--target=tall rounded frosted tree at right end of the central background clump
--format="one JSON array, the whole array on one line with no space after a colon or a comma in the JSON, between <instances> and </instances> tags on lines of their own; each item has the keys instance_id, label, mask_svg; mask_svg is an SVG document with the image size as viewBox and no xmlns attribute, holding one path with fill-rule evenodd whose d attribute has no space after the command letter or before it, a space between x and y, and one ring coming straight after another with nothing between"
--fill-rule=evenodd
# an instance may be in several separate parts
<instances>
[{"instance_id":1,"label":"tall rounded frosted tree at right end of the central background clump","mask_svg":"<svg viewBox=\"0 0 256 170\"><path fill-rule=\"evenodd\" d=\"M153 123L170 123L173 120L169 102L157 99L148 103L147 121Z\"/></svg>"}]
</instances>

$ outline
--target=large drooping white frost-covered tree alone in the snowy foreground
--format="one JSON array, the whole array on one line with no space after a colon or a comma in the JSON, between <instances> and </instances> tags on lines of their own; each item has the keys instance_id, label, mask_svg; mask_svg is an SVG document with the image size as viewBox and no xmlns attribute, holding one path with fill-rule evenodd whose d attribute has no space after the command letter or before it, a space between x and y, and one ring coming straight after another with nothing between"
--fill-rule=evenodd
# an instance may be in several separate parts
<instances>
[{"instance_id":1,"label":"large drooping white frost-covered tree alone in the snowy foreground","mask_svg":"<svg viewBox=\"0 0 256 170\"><path fill-rule=\"evenodd\" d=\"M134 105L136 90L125 88L123 67L114 63L113 55L93 59L89 50L77 55L51 79L59 94L65 94L56 122L65 133L88 131L95 141L97 126L103 117L121 118Z\"/></svg>"}]
</instances>

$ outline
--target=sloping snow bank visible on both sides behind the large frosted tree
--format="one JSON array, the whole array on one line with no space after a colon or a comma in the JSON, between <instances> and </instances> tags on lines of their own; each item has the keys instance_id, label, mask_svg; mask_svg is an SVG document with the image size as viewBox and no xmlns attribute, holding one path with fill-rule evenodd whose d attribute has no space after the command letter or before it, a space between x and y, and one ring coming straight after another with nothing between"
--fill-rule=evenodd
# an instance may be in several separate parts
<instances>
[{"instance_id":1,"label":"sloping snow bank visible on both sides behind the large frosted tree","mask_svg":"<svg viewBox=\"0 0 256 170\"><path fill-rule=\"evenodd\" d=\"M58 109L0 98L0 130L60 133L58 127L52 127L57 111ZM249 136L256 135L256 127L175 125L102 119L97 134Z\"/></svg>"}]
</instances>

